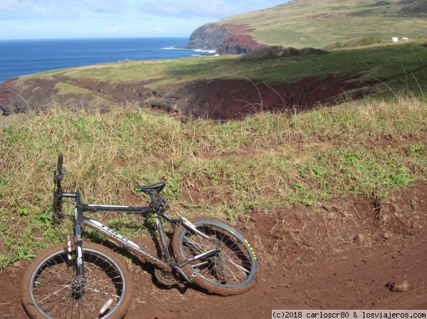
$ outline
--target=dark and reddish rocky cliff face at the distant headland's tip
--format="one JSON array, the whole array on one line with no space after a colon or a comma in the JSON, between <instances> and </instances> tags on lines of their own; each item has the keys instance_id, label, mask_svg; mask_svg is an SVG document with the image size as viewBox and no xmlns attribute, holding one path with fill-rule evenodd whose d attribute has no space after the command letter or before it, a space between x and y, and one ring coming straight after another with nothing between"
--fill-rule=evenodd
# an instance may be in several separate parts
<instances>
[{"instance_id":1,"label":"dark and reddish rocky cliff face at the distant headland's tip","mask_svg":"<svg viewBox=\"0 0 427 319\"><path fill-rule=\"evenodd\" d=\"M220 55L248 53L265 46L247 34L251 31L245 26L206 23L191 33L186 48L216 50Z\"/></svg>"}]
</instances>

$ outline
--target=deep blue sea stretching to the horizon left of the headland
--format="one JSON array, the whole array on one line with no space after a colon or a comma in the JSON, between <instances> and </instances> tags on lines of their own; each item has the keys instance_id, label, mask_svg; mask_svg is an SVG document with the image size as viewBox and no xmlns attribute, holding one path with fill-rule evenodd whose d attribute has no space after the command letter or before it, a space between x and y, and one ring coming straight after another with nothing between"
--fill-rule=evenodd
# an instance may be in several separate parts
<instances>
[{"instance_id":1,"label":"deep blue sea stretching to the horizon left of the headland","mask_svg":"<svg viewBox=\"0 0 427 319\"><path fill-rule=\"evenodd\" d=\"M188 42L189 38L0 40L0 83L10 77L65 67L212 53L179 48Z\"/></svg>"}]
</instances>

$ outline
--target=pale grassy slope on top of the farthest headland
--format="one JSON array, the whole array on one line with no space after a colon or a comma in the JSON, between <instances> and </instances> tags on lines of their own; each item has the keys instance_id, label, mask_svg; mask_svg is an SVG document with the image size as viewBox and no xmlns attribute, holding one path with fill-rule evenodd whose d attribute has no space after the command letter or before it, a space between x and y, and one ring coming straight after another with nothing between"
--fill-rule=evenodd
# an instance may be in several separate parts
<instances>
[{"instance_id":1,"label":"pale grassy slope on top of the farthest headland","mask_svg":"<svg viewBox=\"0 0 427 319\"><path fill-rule=\"evenodd\" d=\"M295 48L315 47L335 41L375 36L425 38L427 4L410 6L397 0L291 0L263 11L231 16L214 24L237 24L253 28L258 43Z\"/></svg>"}]
</instances>

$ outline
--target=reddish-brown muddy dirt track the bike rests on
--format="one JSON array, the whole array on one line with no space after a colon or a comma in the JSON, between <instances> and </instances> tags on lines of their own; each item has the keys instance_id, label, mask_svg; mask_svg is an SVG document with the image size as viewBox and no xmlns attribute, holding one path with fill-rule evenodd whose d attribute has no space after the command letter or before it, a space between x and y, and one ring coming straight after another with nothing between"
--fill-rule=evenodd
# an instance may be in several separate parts
<instances>
[{"instance_id":1,"label":"reddish-brown muddy dirt track the bike rests on","mask_svg":"<svg viewBox=\"0 0 427 319\"><path fill-rule=\"evenodd\" d=\"M258 249L251 291L220 297L184 284L164 288L131 263L135 296L125 319L271 318L273 309L427 309L427 183L389 196L319 207L255 210L231 222ZM148 244L148 243L147 243ZM26 319L21 262L0 274L0 318ZM407 281L405 291L391 285Z\"/></svg>"}]
</instances>

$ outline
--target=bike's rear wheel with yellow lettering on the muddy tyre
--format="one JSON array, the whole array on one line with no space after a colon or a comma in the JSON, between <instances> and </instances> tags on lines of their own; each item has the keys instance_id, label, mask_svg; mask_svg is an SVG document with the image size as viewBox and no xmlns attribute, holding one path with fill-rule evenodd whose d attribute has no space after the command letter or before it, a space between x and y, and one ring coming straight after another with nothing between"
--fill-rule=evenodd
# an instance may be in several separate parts
<instances>
[{"instance_id":1,"label":"bike's rear wheel with yellow lettering on the muddy tyre","mask_svg":"<svg viewBox=\"0 0 427 319\"><path fill-rule=\"evenodd\" d=\"M258 272L258 259L248 240L219 220L203 218L194 220L193 224L211 240L184 226L179 227L173 240L177 261L189 261L221 247L219 252L183 266L186 273L194 278L194 283L222 296L248 291Z\"/></svg>"}]
</instances>

